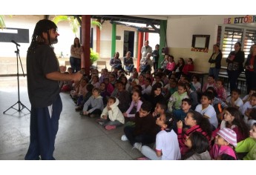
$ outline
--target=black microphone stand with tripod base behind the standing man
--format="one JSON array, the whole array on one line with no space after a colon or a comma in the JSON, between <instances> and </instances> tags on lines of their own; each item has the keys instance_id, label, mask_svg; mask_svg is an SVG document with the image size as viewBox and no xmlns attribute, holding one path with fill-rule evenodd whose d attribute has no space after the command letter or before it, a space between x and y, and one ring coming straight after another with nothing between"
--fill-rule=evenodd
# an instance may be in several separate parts
<instances>
[{"instance_id":1,"label":"black microphone stand with tripod base behind the standing man","mask_svg":"<svg viewBox=\"0 0 256 175\"><path fill-rule=\"evenodd\" d=\"M16 43L14 43L14 44L16 44ZM17 110L17 111L20 112L20 111L22 111L24 108L26 108L28 111L30 111L30 110L20 101L20 99L19 99L19 64L18 64L18 59L19 59L19 62L20 62L20 64L21 64L21 66L22 66L22 60L21 60L21 57L19 56L19 48L18 48L18 46L19 46L19 45L16 44L17 50L15 51L15 53L16 53L16 58L17 58L18 102L16 102L16 103L15 103L14 105L12 105L10 108L13 108L15 105L18 104L19 108L18 108L18 109L13 108L13 109L15 109L15 110ZM25 77L23 67L22 67L22 73L23 73L23 76ZM7 110L10 110L10 108L8 108ZM7 112L7 110L4 110L4 114L5 114L5 112Z\"/></svg>"}]
</instances>

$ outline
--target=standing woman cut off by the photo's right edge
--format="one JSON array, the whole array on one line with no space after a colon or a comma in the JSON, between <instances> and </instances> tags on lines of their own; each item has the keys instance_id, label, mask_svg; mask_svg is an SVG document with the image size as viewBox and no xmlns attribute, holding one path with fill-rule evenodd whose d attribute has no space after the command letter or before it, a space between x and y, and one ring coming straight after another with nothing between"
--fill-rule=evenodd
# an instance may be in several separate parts
<instances>
[{"instance_id":1,"label":"standing woman cut off by the photo's right edge","mask_svg":"<svg viewBox=\"0 0 256 175\"><path fill-rule=\"evenodd\" d=\"M252 88L256 88L256 44L253 44L250 50L249 55L246 59L246 85L247 85L247 94L249 94Z\"/></svg>"}]
</instances>

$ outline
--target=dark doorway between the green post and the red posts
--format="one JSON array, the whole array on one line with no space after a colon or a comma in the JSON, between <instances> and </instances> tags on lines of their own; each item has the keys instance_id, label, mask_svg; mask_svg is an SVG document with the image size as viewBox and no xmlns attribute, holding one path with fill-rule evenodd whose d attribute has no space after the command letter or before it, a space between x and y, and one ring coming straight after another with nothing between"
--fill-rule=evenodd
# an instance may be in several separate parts
<instances>
[{"instance_id":1,"label":"dark doorway between the green post and the red posts","mask_svg":"<svg viewBox=\"0 0 256 175\"><path fill-rule=\"evenodd\" d=\"M126 55L128 51L131 52L131 57L134 57L134 31L124 31L124 48L123 56Z\"/></svg>"}]
</instances>

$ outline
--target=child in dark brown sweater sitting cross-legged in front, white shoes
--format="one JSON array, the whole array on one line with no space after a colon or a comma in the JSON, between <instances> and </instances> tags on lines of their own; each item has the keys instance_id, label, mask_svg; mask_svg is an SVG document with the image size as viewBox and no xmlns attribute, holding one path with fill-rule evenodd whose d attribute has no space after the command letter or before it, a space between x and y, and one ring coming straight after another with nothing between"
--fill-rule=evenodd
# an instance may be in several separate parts
<instances>
[{"instance_id":1,"label":"child in dark brown sweater sitting cross-legged in front, white shoes","mask_svg":"<svg viewBox=\"0 0 256 175\"><path fill-rule=\"evenodd\" d=\"M135 114L135 127L125 126L122 141L128 140L132 146L136 142L142 145L155 142L157 125L156 119L151 115L151 108L150 102L142 103L140 111Z\"/></svg>"}]
</instances>

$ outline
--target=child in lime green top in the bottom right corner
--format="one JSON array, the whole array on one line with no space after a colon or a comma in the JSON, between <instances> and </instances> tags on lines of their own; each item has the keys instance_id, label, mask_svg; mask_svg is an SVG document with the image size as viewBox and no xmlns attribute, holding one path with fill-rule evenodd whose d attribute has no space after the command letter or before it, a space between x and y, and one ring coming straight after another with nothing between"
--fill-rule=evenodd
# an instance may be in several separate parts
<instances>
[{"instance_id":1,"label":"child in lime green top in the bottom right corner","mask_svg":"<svg viewBox=\"0 0 256 175\"><path fill-rule=\"evenodd\" d=\"M247 153L246 156L243 157L243 160L256 160L256 122L252 125L250 136L238 142L235 151L237 153Z\"/></svg>"}]
</instances>

